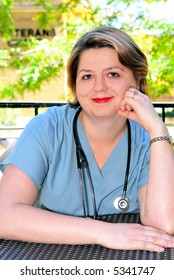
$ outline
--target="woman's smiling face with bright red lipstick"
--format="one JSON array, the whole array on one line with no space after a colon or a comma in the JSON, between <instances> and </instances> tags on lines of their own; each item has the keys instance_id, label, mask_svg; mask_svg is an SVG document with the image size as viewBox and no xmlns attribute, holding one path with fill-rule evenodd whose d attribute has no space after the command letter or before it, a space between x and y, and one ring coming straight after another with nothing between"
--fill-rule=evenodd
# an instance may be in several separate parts
<instances>
[{"instance_id":1,"label":"woman's smiling face with bright red lipstick","mask_svg":"<svg viewBox=\"0 0 174 280\"><path fill-rule=\"evenodd\" d=\"M126 90L136 86L133 72L119 62L114 49L89 49L81 53L76 94L86 113L98 117L116 114Z\"/></svg>"}]
</instances>

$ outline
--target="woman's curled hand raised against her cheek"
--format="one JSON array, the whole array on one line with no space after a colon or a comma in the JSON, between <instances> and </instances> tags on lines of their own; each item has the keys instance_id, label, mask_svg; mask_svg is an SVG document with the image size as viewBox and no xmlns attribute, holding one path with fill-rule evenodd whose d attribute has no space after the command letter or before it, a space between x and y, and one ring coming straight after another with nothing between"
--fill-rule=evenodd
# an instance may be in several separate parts
<instances>
[{"instance_id":1,"label":"woman's curled hand raised against her cheek","mask_svg":"<svg viewBox=\"0 0 174 280\"><path fill-rule=\"evenodd\" d=\"M167 133L167 128L156 113L149 97L136 88L130 87L121 102L118 114L138 122L150 134ZM158 132L159 131L159 132Z\"/></svg>"}]
</instances>

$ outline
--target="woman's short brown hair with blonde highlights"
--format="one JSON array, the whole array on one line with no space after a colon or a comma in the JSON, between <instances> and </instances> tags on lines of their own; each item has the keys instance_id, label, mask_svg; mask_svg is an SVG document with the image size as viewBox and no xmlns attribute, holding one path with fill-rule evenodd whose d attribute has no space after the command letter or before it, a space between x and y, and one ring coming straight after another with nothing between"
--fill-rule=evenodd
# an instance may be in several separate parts
<instances>
[{"instance_id":1,"label":"woman's short brown hair with blonde highlights","mask_svg":"<svg viewBox=\"0 0 174 280\"><path fill-rule=\"evenodd\" d=\"M69 102L71 106L79 106L76 96L76 76L80 55L87 49L106 47L116 50L120 63L132 70L139 90L147 94L148 63L145 54L124 31L114 27L101 26L79 38L69 57L67 65L68 86L74 99Z\"/></svg>"}]
</instances>

